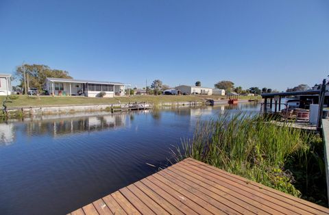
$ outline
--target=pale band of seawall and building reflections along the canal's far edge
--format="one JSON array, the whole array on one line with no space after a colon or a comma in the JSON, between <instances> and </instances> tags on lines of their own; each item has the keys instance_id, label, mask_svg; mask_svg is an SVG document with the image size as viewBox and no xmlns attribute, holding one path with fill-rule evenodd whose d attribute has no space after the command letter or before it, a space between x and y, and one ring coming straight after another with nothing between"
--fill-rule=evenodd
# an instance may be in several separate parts
<instances>
[{"instance_id":1,"label":"pale band of seawall and building reflections along the canal's far edge","mask_svg":"<svg viewBox=\"0 0 329 215\"><path fill-rule=\"evenodd\" d=\"M202 106L198 108L175 108L170 110L143 110L123 113L108 112L77 112L73 114L53 114L53 115L34 115L27 118L12 118L0 123L0 147L9 145L15 140L17 126L15 123L24 125L23 133L26 136L47 135L59 137L69 134L79 134L83 132L102 131L106 129L119 129L125 127L126 123L134 120L137 114L151 114L155 121L161 120L161 114L164 111L174 112L181 116L207 116L218 110L218 114L224 114L225 111L232 110L239 112L241 109L257 112L254 104L240 105L220 105L215 108Z\"/></svg>"}]
</instances>

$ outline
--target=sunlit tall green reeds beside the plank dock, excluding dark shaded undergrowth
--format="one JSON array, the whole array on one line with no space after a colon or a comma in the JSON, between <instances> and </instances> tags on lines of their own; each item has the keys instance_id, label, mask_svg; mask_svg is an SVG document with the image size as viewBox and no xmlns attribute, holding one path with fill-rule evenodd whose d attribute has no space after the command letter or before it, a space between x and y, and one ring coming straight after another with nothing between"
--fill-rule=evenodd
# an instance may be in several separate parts
<instances>
[{"instance_id":1,"label":"sunlit tall green reeds beside the plank dock, excluding dark shaded undergrowth","mask_svg":"<svg viewBox=\"0 0 329 215\"><path fill-rule=\"evenodd\" d=\"M172 151L175 161L193 157L300 197L301 192L293 186L293 175L284 164L308 147L311 134L269 121L245 112L199 121L193 138L182 140L182 146Z\"/></svg>"}]
</instances>

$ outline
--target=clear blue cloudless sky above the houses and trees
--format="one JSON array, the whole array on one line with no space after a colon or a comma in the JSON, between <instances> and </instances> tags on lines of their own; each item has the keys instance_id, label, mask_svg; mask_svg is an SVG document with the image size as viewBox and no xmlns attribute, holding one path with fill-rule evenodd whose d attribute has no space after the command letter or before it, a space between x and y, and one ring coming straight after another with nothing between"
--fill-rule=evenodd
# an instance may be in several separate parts
<instances>
[{"instance_id":1,"label":"clear blue cloudless sky above the houses and trees","mask_svg":"<svg viewBox=\"0 0 329 215\"><path fill-rule=\"evenodd\" d=\"M329 1L0 0L0 73L285 90L329 75Z\"/></svg>"}]
</instances>

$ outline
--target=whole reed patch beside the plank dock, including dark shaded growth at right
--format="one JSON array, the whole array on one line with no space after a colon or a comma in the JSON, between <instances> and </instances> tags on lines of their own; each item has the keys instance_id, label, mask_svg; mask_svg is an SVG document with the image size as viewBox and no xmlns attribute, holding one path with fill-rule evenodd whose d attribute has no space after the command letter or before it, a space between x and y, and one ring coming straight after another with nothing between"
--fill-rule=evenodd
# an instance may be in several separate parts
<instances>
[{"instance_id":1,"label":"whole reed patch beside the plank dock, including dark shaded growth at right","mask_svg":"<svg viewBox=\"0 0 329 215\"><path fill-rule=\"evenodd\" d=\"M268 123L245 113L197 123L191 140L172 150L265 186L327 206L324 147L319 134Z\"/></svg>"}]
</instances>

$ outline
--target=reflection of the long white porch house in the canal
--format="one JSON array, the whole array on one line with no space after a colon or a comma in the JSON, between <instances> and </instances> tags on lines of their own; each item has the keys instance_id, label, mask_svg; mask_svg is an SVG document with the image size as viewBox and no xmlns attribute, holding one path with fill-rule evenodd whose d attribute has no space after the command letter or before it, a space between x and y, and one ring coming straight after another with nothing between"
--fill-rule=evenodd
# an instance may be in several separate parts
<instances>
[{"instance_id":1,"label":"reflection of the long white porch house in the canal","mask_svg":"<svg viewBox=\"0 0 329 215\"><path fill-rule=\"evenodd\" d=\"M88 116L82 118L65 118L51 121L31 121L26 125L26 134L64 135L82 131L101 131L124 125L125 116L115 114L106 116Z\"/></svg>"}]
</instances>

